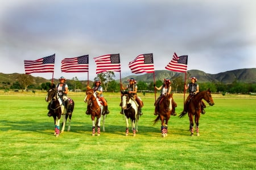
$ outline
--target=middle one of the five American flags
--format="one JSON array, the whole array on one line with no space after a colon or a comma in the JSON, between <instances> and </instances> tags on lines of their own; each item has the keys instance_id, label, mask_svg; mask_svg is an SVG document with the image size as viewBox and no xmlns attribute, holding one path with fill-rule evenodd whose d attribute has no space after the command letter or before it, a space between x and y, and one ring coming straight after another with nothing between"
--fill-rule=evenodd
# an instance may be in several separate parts
<instances>
[{"instance_id":1,"label":"middle one of the five American flags","mask_svg":"<svg viewBox=\"0 0 256 170\"><path fill-rule=\"evenodd\" d=\"M96 62L96 74L104 71L121 72L119 54L108 54L93 59Z\"/></svg>"}]
</instances>

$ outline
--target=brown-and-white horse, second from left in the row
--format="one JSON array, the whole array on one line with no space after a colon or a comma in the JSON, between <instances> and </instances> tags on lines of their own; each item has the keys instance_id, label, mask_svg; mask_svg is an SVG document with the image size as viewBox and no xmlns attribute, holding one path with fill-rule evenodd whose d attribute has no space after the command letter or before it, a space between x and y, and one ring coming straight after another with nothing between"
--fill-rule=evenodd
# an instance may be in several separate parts
<instances>
[{"instance_id":1,"label":"brown-and-white horse, second from left in the row","mask_svg":"<svg viewBox=\"0 0 256 170\"><path fill-rule=\"evenodd\" d=\"M92 118L92 135L93 136L95 135L95 129L96 129L95 127L97 127L97 135L100 136L100 134L101 134L101 115L103 116L102 131L105 131L105 118L106 118L106 114L104 114L104 115L102 114L103 109L104 109L102 102L100 101L100 99L98 99L95 92L90 87L87 87L84 102L88 103L89 108L90 108L89 113L90 113L90 117ZM95 117L97 119L96 122L95 122Z\"/></svg>"}]
</instances>

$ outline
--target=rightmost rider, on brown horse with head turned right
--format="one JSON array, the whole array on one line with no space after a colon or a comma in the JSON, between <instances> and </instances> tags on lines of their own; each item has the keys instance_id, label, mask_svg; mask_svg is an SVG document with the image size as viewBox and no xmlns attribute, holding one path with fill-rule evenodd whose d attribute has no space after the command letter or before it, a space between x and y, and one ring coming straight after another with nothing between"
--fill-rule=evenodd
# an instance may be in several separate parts
<instances>
[{"instance_id":1,"label":"rightmost rider, on brown horse with head turned right","mask_svg":"<svg viewBox=\"0 0 256 170\"><path fill-rule=\"evenodd\" d=\"M184 103L184 109L182 113L187 113L188 112L188 104L191 101L192 97L195 96L199 92L199 85L196 83L197 79L195 77L190 78L191 83L188 83L188 86L185 85L185 90L189 91L189 95ZM201 113L204 114L204 108L206 105L204 104L203 100L201 100Z\"/></svg>"}]
</instances>

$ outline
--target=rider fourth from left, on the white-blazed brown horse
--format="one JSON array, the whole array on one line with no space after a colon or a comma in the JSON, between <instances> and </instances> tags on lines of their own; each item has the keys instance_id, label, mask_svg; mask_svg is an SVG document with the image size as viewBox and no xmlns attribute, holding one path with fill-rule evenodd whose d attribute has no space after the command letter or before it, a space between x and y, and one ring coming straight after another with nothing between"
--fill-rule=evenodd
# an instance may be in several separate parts
<instances>
[{"instance_id":1,"label":"rider fourth from left, on the white-blazed brown horse","mask_svg":"<svg viewBox=\"0 0 256 170\"><path fill-rule=\"evenodd\" d=\"M161 99L163 99L164 96L168 95L171 93L172 87L171 87L171 80L170 79L164 79L164 83L162 86L160 87L156 87L154 84L154 87L156 90L160 90L160 96L158 97L158 99L155 101L155 113L154 115L158 115L159 114L159 102ZM175 113L175 108L177 107L177 104L175 103L174 100L172 100L172 115L176 116Z\"/></svg>"}]
</instances>

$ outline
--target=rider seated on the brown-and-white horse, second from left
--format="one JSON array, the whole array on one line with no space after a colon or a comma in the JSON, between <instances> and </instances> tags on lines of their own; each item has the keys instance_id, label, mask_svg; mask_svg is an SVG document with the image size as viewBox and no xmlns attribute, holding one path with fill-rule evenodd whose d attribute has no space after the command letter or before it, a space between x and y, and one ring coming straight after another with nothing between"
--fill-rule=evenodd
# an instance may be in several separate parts
<instances>
[{"instance_id":1,"label":"rider seated on the brown-and-white horse, second from left","mask_svg":"<svg viewBox=\"0 0 256 170\"><path fill-rule=\"evenodd\" d=\"M103 96L103 88L101 86L101 81L100 80L98 80L98 79L95 80L93 91L97 95L97 97L99 99L101 99L101 101L102 101L102 103L104 105L104 112L102 112L102 114L109 114L108 103L106 102L106 100L105 100L105 98ZM86 114L90 114L89 113L89 106L90 106L90 104L87 105L87 111L85 112Z\"/></svg>"}]
</instances>

